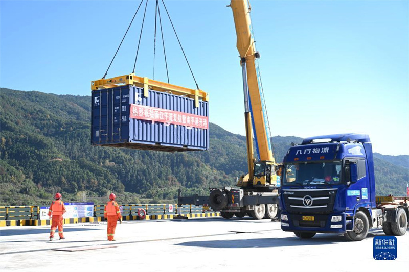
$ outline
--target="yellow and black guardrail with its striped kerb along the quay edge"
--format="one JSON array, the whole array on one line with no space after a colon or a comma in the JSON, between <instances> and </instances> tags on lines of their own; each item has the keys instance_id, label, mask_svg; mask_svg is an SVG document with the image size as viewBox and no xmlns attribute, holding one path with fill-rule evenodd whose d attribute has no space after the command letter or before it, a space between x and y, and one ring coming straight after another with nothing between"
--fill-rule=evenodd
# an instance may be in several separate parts
<instances>
[{"instance_id":1,"label":"yellow and black guardrail with its striped kerb along the quay edge","mask_svg":"<svg viewBox=\"0 0 409 272\"><path fill-rule=\"evenodd\" d=\"M173 209L169 209L172 206ZM178 216L187 218L218 217L219 212L208 210L208 207L177 204L126 204L122 205L124 221L140 220L138 209L146 212L145 220L166 220ZM171 210L171 212L169 212ZM64 224L93 223L104 221L104 205L94 205L94 216L83 218L64 218ZM47 226L51 220L40 220L40 206L0 206L0 227L5 226Z\"/></svg>"}]
</instances>

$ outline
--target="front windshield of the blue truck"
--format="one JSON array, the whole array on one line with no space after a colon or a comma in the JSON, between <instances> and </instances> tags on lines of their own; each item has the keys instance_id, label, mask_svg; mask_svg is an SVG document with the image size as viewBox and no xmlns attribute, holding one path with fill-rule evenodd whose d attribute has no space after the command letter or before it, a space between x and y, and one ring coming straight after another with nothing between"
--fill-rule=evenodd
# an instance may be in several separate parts
<instances>
[{"instance_id":1,"label":"front windshield of the blue truck","mask_svg":"<svg viewBox=\"0 0 409 272\"><path fill-rule=\"evenodd\" d=\"M339 184L341 162L287 164L284 185Z\"/></svg>"}]
</instances>

